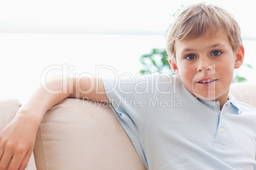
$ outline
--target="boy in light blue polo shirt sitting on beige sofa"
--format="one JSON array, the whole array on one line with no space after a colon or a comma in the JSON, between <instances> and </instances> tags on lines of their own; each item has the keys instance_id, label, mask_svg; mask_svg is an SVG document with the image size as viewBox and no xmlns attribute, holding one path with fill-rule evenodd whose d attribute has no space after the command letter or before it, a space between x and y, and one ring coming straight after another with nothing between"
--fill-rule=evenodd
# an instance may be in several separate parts
<instances>
[{"instance_id":1,"label":"boy in light blue polo shirt sitting on beige sofa","mask_svg":"<svg viewBox=\"0 0 256 170\"><path fill-rule=\"evenodd\" d=\"M256 169L256 110L229 95L245 53L238 23L218 6L188 6L168 32L167 53L178 77L71 79L59 95L38 89L1 131L0 169L25 167L43 115L68 97L111 103L147 169ZM47 85L62 89L62 80Z\"/></svg>"}]
</instances>

